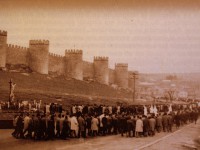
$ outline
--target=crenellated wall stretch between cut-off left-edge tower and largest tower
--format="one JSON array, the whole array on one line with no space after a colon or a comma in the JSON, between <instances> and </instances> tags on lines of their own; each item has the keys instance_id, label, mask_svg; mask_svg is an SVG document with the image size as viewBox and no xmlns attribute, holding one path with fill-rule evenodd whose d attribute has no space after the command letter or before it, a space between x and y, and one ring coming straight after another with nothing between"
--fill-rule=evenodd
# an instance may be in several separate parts
<instances>
[{"instance_id":1,"label":"crenellated wall stretch between cut-off left-edge tower and largest tower","mask_svg":"<svg viewBox=\"0 0 200 150\"><path fill-rule=\"evenodd\" d=\"M28 66L28 48L8 44L6 63L13 65L24 64Z\"/></svg>"}]
</instances>

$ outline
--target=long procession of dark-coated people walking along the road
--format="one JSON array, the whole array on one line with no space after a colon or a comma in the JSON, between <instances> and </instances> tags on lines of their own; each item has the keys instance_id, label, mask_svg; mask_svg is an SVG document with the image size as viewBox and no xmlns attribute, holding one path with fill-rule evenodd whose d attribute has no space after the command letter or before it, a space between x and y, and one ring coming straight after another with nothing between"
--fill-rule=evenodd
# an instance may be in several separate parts
<instances>
[{"instance_id":1,"label":"long procession of dark-coated people walking along the road","mask_svg":"<svg viewBox=\"0 0 200 150\"><path fill-rule=\"evenodd\" d=\"M70 112L20 114L13 119L16 138L53 140L117 135L154 136L172 132L187 123L196 123L199 107L195 106L78 106Z\"/></svg>"}]
</instances>

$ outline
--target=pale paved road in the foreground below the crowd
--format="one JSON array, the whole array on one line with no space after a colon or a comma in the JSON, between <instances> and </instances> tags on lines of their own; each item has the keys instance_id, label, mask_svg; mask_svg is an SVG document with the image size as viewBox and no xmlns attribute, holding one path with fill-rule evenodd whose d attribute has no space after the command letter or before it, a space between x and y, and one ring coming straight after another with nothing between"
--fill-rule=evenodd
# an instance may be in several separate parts
<instances>
[{"instance_id":1,"label":"pale paved road in the foreground below the crowd","mask_svg":"<svg viewBox=\"0 0 200 150\"><path fill-rule=\"evenodd\" d=\"M15 139L12 130L0 130L0 150L184 150L199 135L200 122L189 124L173 133L157 133L154 137L129 138L116 136L54 141Z\"/></svg>"}]
</instances>

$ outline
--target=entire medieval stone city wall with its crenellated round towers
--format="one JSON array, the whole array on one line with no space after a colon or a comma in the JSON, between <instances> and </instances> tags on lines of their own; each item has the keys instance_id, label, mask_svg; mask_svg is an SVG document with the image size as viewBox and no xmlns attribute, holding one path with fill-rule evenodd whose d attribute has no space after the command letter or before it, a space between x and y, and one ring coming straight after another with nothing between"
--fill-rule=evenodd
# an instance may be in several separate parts
<instances>
[{"instance_id":1,"label":"entire medieval stone city wall with its crenellated round towers","mask_svg":"<svg viewBox=\"0 0 200 150\"><path fill-rule=\"evenodd\" d=\"M40 74L53 72L77 80L94 79L101 84L133 89L133 72L128 72L128 64L116 64L113 70L108 68L108 57L94 57L93 63L83 61L82 57L82 50L66 50L65 56L49 53L46 40L30 40L29 48L7 45L7 32L0 31L0 68L6 64L24 64Z\"/></svg>"}]
</instances>

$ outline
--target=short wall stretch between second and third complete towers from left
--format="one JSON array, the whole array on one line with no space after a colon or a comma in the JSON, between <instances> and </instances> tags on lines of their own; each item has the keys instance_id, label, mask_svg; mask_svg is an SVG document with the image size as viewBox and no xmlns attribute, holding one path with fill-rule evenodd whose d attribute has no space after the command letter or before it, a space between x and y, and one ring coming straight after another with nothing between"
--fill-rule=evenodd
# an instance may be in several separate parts
<instances>
[{"instance_id":1,"label":"short wall stretch between second and third complete towers from left","mask_svg":"<svg viewBox=\"0 0 200 150\"><path fill-rule=\"evenodd\" d=\"M94 64L91 62L83 61L83 78L94 78Z\"/></svg>"}]
</instances>

